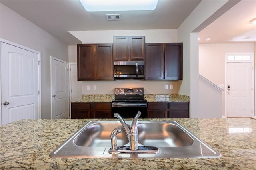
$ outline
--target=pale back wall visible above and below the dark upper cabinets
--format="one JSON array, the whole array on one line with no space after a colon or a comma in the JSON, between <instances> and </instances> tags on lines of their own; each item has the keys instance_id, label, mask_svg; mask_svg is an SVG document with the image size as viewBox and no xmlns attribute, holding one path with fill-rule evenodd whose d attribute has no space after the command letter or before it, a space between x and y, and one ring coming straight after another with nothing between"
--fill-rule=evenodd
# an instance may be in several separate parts
<instances>
[{"instance_id":1,"label":"pale back wall visible above and below the dark upper cabinets","mask_svg":"<svg viewBox=\"0 0 256 170\"><path fill-rule=\"evenodd\" d=\"M113 36L145 36L146 43L177 42L177 30L109 30L109 31L73 31L70 32L82 43L113 43ZM69 62L77 62L76 46L69 46ZM170 89L170 84L174 89ZM96 90L93 90L96 85ZM165 89L165 85L169 89ZM90 90L86 87L90 86ZM144 93L178 93L177 81L143 81L143 80L116 80L116 81L83 81L82 94L114 94L115 87L144 87Z\"/></svg>"}]
</instances>

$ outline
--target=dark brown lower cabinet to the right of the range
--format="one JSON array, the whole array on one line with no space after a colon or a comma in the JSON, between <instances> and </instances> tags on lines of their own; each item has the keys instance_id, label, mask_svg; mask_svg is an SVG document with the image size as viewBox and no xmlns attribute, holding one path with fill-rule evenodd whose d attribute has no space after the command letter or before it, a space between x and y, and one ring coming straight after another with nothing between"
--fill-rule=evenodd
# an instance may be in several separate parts
<instances>
[{"instance_id":1,"label":"dark brown lower cabinet to the right of the range","mask_svg":"<svg viewBox=\"0 0 256 170\"><path fill-rule=\"evenodd\" d=\"M189 118L189 102L148 102L148 118Z\"/></svg>"}]
</instances>

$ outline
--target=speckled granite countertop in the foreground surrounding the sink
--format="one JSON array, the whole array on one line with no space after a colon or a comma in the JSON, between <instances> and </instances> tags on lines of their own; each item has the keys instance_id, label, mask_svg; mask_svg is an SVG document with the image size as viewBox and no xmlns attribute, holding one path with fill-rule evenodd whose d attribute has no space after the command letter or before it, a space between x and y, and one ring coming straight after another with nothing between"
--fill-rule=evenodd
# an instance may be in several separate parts
<instances>
[{"instance_id":1,"label":"speckled granite countertop in the foreground surrounding the sink","mask_svg":"<svg viewBox=\"0 0 256 170\"><path fill-rule=\"evenodd\" d=\"M143 119L175 120L222 158L49 157L84 124L97 120L106 119L23 119L1 126L0 169L256 169L256 120L251 118Z\"/></svg>"}]
</instances>

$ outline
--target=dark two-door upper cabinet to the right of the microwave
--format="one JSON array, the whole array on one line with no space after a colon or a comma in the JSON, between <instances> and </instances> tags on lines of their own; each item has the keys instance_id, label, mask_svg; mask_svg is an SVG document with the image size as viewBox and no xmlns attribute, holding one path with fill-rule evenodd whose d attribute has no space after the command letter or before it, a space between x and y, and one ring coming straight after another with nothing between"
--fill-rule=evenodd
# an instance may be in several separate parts
<instances>
[{"instance_id":1,"label":"dark two-door upper cabinet to the right of the microwave","mask_svg":"<svg viewBox=\"0 0 256 170\"><path fill-rule=\"evenodd\" d=\"M146 43L146 79L182 80L182 43Z\"/></svg>"}]
</instances>

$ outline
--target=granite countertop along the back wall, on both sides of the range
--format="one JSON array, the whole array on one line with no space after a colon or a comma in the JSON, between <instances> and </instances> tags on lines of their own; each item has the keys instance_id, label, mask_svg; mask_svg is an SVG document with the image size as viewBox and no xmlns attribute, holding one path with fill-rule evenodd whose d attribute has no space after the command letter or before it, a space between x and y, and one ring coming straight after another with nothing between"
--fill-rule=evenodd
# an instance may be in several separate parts
<instances>
[{"instance_id":1,"label":"granite countertop along the back wall, on both sides of the range","mask_svg":"<svg viewBox=\"0 0 256 170\"><path fill-rule=\"evenodd\" d=\"M71 101L71 103L81 102L112 102L115 95L82 95L81 99ZM144 94L148 102L188 102L189 96L178 94Z\"/></svg>"}]
</instances>

